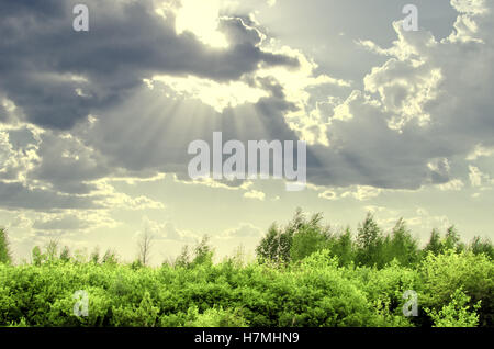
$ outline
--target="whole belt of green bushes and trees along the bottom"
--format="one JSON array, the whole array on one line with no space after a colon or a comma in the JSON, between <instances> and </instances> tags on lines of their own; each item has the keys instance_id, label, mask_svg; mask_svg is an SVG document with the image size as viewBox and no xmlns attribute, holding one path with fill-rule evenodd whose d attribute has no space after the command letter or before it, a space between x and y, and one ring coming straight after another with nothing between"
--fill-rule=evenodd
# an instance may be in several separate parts
<instances>
[{"instance_id":1,"label":"whole belt of green bushes and trees along the bottom","mask_svg":"<svg viewBox=\"0 0 494 349\"><path fill-rule=\"evenodd\" d=\"M214 262L207 236L150 267L115 251L50 241L12 262L0 229L0 326L493 327L494 247L454 226L419 246L404 219L384 232L369 213L356 232L297 210L247 260ZM82 294L82 297L78 297ZM82 312L81 312L82 309Z\"/></svg>"}]
</instances>

